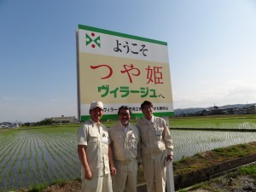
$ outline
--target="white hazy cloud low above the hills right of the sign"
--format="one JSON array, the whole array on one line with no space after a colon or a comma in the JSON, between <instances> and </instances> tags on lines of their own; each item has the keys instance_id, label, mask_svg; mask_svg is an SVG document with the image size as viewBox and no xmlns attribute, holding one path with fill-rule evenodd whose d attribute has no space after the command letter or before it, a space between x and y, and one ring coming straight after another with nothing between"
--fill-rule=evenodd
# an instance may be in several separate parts
<instances>
[{"instance_id":1,"label":"white hazy cloud low above the hills right of the sign","mask_svg":"<svg viewBox=\"0 0 256 192\"><path fill-rule=\"evenodd\" d=\"M184 91L185 92L185 91ZM228 104L256 102L256 84L245 80L233 80L220 86L207 86L203 90L195 90L193 94L173 96L174 108L207 108Z\"/></svg>"}]
</instances>

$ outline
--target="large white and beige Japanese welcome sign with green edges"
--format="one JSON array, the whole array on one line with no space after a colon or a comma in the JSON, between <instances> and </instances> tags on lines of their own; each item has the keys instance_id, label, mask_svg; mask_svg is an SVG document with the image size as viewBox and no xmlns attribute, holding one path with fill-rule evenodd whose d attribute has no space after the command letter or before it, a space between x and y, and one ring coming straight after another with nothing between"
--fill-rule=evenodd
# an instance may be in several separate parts
<instances>
[{"instance_id":1,"label":"large white and beige Japanese welcome sign with green edges","mask_svg":"<svg viewBox=\"0 0 256 192\"><path fill-rule=\"evenodd\" d=\"M79 25L77 30L79 118L90 118L90 102L104 104L102 119L116 119L120 106L142 117L140 104L172 116L172 85L167 43Z\"/></svg>"}]
</instances>

